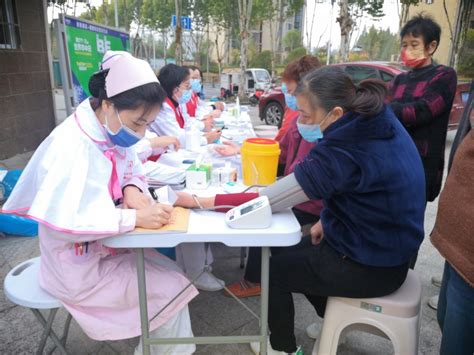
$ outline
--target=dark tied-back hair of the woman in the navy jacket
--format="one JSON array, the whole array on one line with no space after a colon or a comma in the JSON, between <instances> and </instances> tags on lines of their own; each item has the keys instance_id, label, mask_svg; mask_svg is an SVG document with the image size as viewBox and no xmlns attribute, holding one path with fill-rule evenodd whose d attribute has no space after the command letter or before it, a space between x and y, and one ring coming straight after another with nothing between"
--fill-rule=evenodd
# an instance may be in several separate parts
<instances>
[{"instance_id":1,"label":"dark tied-back hair of the woman in the navy jacket","mask_svg":"<svg viewBox=\"0 0 474 355\"><path fill-rule=\"evenodd\" d=\"M339 106L344 112L374 116L384 107L387 87L378 79L363 80L356 87L344 70L326 66L306 74L295 93L305 95L313 108L320 106L326 112Z\"/></svg>"}]
</instances>

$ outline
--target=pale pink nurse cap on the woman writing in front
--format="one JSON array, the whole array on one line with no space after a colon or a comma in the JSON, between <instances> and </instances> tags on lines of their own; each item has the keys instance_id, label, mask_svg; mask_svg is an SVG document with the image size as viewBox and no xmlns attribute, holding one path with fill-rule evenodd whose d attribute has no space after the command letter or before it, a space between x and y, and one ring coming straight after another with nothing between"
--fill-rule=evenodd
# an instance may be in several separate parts
<instances>
[{"instance_id":1,"label":"pale pink nurse cap on the woman writing in front","mask_svg":"<svg viewBox=\"0 0 474 355\"><path fill-rule=\"evenodd\" d=\"M108 69L105 77L107 97L145 84L159 83L150 64L133 57L128 52L107 51L102 60L101 69Z\"/></svg>"}]
</instances>

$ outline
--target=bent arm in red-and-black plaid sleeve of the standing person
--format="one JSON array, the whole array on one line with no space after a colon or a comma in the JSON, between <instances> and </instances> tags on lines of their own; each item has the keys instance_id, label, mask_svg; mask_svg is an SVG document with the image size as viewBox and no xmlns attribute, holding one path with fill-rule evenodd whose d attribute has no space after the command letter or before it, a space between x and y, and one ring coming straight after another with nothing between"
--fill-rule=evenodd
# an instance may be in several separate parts
<instances>
[{"instance_id":1,"label":"bent arm in red-and-black plaid sleeve of the standing person","mask_svg":"<svg viewBox=\"0 0 474 355\"><path fill-rule=\"evenodd\" d=\"M418 127L430 123L443 112L451 110L456 93L456 72L449 68L440 72L427 83L424 93L413 101L400 102L395 99L390 106L405 127ZM393 86L397 90L398 86ZM394 96L392 89L392 97Z\"/></svg>"}]
</instances>

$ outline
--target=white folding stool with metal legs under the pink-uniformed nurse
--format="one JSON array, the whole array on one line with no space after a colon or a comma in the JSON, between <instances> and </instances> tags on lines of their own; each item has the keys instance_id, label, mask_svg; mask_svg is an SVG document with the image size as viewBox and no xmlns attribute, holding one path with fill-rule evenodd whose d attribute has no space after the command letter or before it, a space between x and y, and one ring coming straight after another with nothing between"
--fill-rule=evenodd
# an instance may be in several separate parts
<instances>
[{"instance_id":1,"label":"white folding stool with metal legs under the pink-uniformed nurse","mask_svg":"<svg viewBox=\"0 0 474 355\"><path fill-rule=\"evenodd\" d=\"M13 303L30 308L36 319L38 319L43 326L43 336L41 337L41 342L36 354L43 353L48 337L50 337L55 344L55 347L51 352L53 352L57 347L61 353L67 354L65 345L72 317L68 313L63 335L59 338L53 331L52 325L54 317L56 316L58 309L62 307L62 304L59 300L51 296L39 286L39 266L40 258L38 257L24 261L17 267L13 268L5 277L3 283L5 295ZM40 309L50 310L48 320L43 317L39 311Z\"/></svg>"}]
</instances>

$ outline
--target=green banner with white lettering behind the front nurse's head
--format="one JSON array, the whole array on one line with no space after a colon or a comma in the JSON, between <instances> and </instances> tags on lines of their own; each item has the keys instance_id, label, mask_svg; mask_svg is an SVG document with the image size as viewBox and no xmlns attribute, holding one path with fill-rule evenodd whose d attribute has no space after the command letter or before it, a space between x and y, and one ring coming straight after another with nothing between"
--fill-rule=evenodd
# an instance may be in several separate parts
<instances>
[{"instance_id":1,"label":"green banner with white lettering behind the front nurse's head","mask_svg":"<svg viewBox=\"0 0 474 355\"><path fill-rule=\"evenodd\" d=\"M64 25L74 85L74 103L77 106L90 96L89 78L100 69L105 52L129 52L130 36L128 33L69 16L64 17Z\"/></svg>"}]
</instances>

